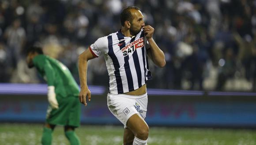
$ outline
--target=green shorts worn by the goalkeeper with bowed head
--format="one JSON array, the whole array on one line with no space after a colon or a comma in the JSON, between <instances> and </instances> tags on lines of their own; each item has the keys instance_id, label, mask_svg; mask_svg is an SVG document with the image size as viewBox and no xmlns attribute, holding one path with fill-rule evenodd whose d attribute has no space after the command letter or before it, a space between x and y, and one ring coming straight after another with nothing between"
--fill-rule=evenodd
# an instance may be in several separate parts
<instances>
[{"instance_id":1,"label":"green shorts worn by the goalkeeper with bowed head","mask_svg":"<svg viewBox=\"0 0 256 145\"><path fill-rule=\"evenodd\" d=\"M79 127L81 103L78 96L62 98L57 96L59 109L52 109L49 105L46 113L46 123Z\"/></svg>"}]
</instances>

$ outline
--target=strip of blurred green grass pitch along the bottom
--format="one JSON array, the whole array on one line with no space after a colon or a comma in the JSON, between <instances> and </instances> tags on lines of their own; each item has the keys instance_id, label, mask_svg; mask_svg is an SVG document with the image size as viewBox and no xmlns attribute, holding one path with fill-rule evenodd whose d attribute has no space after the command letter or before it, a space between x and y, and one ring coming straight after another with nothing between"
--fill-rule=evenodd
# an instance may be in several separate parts
<instances>
[{"instance_id":1,"label":"strip of blurred green grass pitch along the bottom","mask_svg":"<svg viewBox=\"0 0 256 145\"><path fill-rule=\"evenodd\" d=\"M43 125L0 123L0 145L40 145ZM123 127L81 126L82 145L122 145ZM56 127L52 145L69 145ZM148 145L256 145L256 130L150 127Z\"/></svg>"}]
</instances>

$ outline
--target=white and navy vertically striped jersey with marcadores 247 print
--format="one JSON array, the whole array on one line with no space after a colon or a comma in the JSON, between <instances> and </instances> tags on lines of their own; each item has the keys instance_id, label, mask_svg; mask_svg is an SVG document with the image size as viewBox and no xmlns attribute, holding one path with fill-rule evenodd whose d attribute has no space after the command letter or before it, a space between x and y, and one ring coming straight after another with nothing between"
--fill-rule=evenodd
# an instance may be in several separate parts
<instances>
[{"instance_id":1,"label":"white and navy vertically striped jersey with marcadores 247 print","mask_svg":"<svg viewBox=\"0 0 256 145\"><path fill-rule=\"evenodd\" d=\"M132 38L124 36L120 30L90 45L94 56L104 54L110 94L134 91L152 79L147 60L148 47L143 30Z\"/></svg>"}]
</instances>

